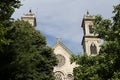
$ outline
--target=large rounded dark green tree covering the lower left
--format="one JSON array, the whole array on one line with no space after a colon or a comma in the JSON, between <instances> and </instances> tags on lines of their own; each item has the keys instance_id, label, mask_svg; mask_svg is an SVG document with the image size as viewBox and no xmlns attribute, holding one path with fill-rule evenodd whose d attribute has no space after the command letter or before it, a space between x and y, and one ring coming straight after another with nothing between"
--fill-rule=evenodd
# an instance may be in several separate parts
<instances>
[{"instance_id":1,"label":"large rounded dark green tree covering the lower left","mask_svg":"<svg viewBox=\"0 0 120 80\"><path fill-rule=\"evenodd\" d=\"M9 35L9 45L0 54L1 80L54 80L56 57L46 46L45 37L29 23L15 21Z\"/></svg>"}]
</instances>

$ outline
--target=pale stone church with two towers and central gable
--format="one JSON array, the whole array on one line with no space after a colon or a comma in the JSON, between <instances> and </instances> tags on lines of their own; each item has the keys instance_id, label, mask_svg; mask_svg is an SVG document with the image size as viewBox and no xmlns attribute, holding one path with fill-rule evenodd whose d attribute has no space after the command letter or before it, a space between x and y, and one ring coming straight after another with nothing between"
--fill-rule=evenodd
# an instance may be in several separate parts
<instances>
[{"instance_id":1,"label":"pale stone church with two towers and central gable","mask_svg":"<svg viewBox=\"0 0 120 80\"><path fill-rule=\"evenodd\" d=\"M36 26L36 17L31 10L27 14L24 14L21 19L28 21L34 27ZM100 39L92 32L94 19L95 17L87 12L83 17L81 25L84 32L81 44L84 54L88 56L95 56L100 50ZM60 38L58 38L54 46L51 47L59 60L58 65L55 66L53 70L55 80L74 80L73 69L78 65L70 62L70 57L73 54L72 51L62 43Z\"/></svg>"}]
</instances>

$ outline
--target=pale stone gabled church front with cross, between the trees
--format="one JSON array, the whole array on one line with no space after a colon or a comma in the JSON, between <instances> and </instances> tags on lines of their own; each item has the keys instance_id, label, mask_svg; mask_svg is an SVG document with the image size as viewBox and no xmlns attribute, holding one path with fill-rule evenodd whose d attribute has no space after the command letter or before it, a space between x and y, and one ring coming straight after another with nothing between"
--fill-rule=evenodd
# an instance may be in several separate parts
<instances>
[{"instance_id":1,"label":"pale stone gabled church front with cross, between the trees","mask_svg":"<svg viewBox=\"0 0 120 80\"><path fill-rule=\"evenodd\" d=\"M75 63L70 62L72 52L61 42L57 40L56 44L52 47L54 53L59 60L57 66L54 67L55 80L73 80L73 68L77 67Z\"/></svg>"}]
</instances>

